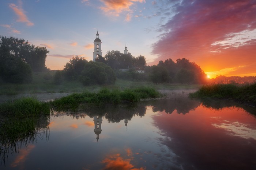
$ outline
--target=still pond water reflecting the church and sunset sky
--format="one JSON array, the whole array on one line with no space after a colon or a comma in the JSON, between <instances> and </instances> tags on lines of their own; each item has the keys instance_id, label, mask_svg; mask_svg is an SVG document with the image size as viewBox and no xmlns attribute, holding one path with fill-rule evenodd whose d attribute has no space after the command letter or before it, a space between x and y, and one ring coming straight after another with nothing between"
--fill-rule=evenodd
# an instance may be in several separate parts
<instances>
[{"instance_id":1,"label":"still pond water reflecting the church and sunset sky","mask_svg":"<svg viewBox=\"0 0 256 170\"><path fill-rule=\"evenodd\" d=\"M223 100L81 107L38 126L33 137L1 143L0 169L256 169L255 108Z\"/></svg>"}]
</instances>

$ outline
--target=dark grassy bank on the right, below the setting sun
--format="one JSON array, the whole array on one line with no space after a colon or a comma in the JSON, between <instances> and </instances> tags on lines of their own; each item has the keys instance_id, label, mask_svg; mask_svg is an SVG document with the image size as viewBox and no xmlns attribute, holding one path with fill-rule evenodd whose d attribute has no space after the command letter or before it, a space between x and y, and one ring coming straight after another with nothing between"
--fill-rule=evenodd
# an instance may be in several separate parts
<instances>
[{"instance_id":1,"label":"dark grassy bank on the right, below the setting sun","mask_svg":"<svg viewBox=\"0 0 256 170\"><path fill-rule=\"evenodd\" d=\"M195 93L189 94L190 98L218 98L232 99L238 102L256 106L256 83L235 84L209 84L199 88Z\"/></svg>"}]
</instances>

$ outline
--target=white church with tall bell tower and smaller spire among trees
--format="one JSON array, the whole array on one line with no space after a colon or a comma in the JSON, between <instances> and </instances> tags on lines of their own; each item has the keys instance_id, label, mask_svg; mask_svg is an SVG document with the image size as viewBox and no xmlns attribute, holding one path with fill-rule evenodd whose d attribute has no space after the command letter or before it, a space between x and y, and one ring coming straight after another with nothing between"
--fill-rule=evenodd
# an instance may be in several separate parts
<instances>
[{"instance_id":1,"label":"white church with tall bell tower and smaller spire among trees","mask_svg":"<svg viewBox=\"0 0 256 170\"><path fill-rule=\"evenodd\" d=\"M102 51L101 51L101 39L99 39L99 33L97 31L96 38L94 40L94 50L93 50L93 62L96 61L96 58L101 55L102 56ZM128 50L126 47L125 43L125 49L124 49L124 54L128 54ZM136 67L135 68L137 72L139 73L144 73L144 68ZM123 71L128 71L128 69L122 69Z\"/></svg>"}]
</instances>

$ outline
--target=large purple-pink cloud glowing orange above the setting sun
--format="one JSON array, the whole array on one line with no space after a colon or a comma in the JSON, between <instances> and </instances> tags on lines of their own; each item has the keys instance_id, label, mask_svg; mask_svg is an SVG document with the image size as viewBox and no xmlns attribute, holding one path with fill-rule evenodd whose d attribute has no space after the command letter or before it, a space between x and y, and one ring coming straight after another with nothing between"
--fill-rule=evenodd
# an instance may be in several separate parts
<instances>
[{"instance_id":1,"label":"large purple-pink cloud glowing orange above the setting sun","mask_svg":"<svg viewBox=\"0 0 256 170\"><path fill-rule=\"evenodd\" d=\"M255 1L184 0L174 7L176 15L159 27L163 33L152 50L159 57L151 64L186 58L210 71L256 63L252 33L246 42L233 39L256 29Z\"/></svg>"}]
</instances>

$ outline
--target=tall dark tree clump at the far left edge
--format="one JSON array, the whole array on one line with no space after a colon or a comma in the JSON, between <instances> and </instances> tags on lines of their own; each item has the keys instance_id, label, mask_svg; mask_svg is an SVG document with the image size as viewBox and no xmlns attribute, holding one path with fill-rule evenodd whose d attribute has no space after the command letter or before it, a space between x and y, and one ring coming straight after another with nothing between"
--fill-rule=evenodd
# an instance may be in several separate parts
<instances>
[{"instance_id":1,"label":"tall dark tree clump at the far left edge","mask_svg":"<svg viewBox=\"0 0 256 170\"><path fill-rule=\"evenodd\" d=\"M0 82L27 83L32 81L32 71L47 70L46 47L35 47L24 39L0 39Z\"/></svg>"}]
</instances>

